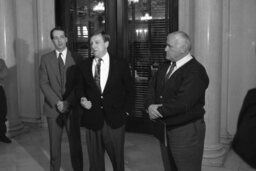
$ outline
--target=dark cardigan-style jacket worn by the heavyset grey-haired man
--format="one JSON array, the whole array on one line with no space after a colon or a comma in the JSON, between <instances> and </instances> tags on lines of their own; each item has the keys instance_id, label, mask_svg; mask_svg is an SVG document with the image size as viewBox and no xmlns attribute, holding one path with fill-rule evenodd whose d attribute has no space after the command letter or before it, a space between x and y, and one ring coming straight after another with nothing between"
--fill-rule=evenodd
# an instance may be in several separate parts
<instances>
[{"instance_id":1,"label":"dark cardigan-style jacket worn by the heavyset grey-haired man","mask_svg":"<svg viewBox=\"0 0 256 171\"><path fill-rule=\"evenodd\" d=\"M163 104L158 111L168 126L179 126L202 118L205 113L205 90L209 84L206 70L193 58L165 82L168 67L169 63L164 63L152 77L146 108L151 104Z\"/></svg>"}]
</instances>

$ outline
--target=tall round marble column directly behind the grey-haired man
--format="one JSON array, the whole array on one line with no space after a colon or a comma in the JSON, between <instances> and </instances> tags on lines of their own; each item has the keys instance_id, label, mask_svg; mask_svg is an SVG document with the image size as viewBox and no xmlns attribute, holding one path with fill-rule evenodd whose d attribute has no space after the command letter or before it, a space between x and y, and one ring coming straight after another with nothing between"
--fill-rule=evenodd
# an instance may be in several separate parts
<instances>
[{"instance_id":1,"label":"tall round marble column directly behind the grey-haired man","mask_svg":"<svg viewBox=\"0 0 256 171\"><path fill-rule=\"evenodd\" d=\"M210 85L206 93L204 165L221 166L226 149L220 143L222 1L195 0L194 54L206 67Z\"/></svg>"}]
</instances>

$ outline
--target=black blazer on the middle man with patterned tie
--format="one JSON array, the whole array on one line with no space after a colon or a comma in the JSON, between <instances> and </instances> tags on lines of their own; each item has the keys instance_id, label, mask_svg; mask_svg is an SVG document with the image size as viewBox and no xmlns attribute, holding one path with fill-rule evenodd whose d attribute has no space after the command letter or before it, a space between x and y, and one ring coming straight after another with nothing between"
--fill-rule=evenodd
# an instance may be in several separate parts
<instances>
[{"instance_id":1,"label":"black blazer on the middle man with patterned tie","mask_svg":"<svg viewBox=\"0 0 256 171\"><path fill-rule=\"evenodd\" d=\"M134 102L134 85L128 64L122 59L110 56L109 75L104 92L101 94L92 75L93 59L79 65L79 84L76 89L78 99L86 97L92 108L84 109L85 127L98 130L104 121L112 128L125 124L127 113L131 114Z\"/></svg>"}]
</instances>

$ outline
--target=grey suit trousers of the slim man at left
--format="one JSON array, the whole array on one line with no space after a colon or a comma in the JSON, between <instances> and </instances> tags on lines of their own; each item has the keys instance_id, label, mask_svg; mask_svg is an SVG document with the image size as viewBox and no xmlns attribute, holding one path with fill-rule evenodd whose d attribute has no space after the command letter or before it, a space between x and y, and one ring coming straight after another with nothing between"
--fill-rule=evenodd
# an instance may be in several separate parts
<instances>
[{"instance_id":1,"label":"grey suit trousers of the slim man at left","mask_svg":"<svg viewBox=\"0 0 256 171\"><path fill-rule=\"evenodd\" d=\"M47 117L50 141L50 171L59 171L61 165L61 140L63 129L66 129L71 163L74 171L83 170L83 151L80 134L79 113L70 113L67 124L61 128L56 123L56 118Z\"/></svg>"}]
</instances>

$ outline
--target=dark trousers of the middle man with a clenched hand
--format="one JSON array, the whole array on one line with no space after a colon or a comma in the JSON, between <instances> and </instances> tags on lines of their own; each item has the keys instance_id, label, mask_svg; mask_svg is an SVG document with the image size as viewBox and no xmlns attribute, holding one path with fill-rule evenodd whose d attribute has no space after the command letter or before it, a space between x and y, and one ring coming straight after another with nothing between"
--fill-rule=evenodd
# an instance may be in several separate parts
<instances>
[{"instance_id":1,"label":"dark trousers of the middle man with a clenched hand","mask_svg":"<svg viewBox=\"0 0 256 171\"><path fill-rule=\"evenodd\" d=\"M86 129L86 143L90 171L105 171L104 154L107 152L114 171L124 171L125 126L112 129L106 123L101 130Z\"/></svg>"}]
</instances>

